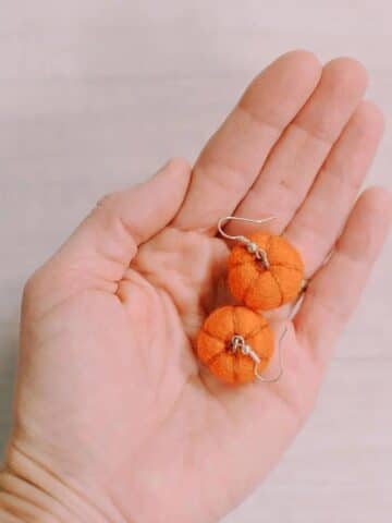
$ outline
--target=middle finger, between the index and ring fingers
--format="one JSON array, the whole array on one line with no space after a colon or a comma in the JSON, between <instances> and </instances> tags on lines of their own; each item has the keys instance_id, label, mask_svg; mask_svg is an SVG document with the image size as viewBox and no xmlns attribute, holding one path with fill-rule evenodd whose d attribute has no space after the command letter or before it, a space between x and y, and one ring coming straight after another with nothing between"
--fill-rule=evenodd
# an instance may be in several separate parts
<instances>
[{"instance_id":1,"label":"middle finger, between the index and ring fingers","mask_svg":"<svg viewBox=\"0 0 392 523\"><path fill-rule=\"evenodd\" d=\"M357 61L339 58L329 62L317 88L283 133L236 215L274 215L270 230L281 232L304 200L366 85L367 74ZM231 232L237 229L233 223Z\"/></svg>"}]
</instances>

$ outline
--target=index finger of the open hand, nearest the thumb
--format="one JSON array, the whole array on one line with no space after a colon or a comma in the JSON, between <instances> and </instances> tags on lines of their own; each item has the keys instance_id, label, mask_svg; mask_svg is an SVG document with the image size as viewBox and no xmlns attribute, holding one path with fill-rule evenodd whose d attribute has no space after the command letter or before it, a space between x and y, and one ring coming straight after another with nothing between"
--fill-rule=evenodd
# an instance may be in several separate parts
<instances>
[{"instance_id":1,"label":"index finger of the open hand, nearest the thumb","mask_svg":"<svg viewBox=\"0 0 392 523\"><path fill-rule=\"evenodd\" d=\"M198 158L174 224L211 229L231 214L258 175L271 148L315 89L321 65L309 52L284 54L249 85Z\"/></svg>"}]
</instances>

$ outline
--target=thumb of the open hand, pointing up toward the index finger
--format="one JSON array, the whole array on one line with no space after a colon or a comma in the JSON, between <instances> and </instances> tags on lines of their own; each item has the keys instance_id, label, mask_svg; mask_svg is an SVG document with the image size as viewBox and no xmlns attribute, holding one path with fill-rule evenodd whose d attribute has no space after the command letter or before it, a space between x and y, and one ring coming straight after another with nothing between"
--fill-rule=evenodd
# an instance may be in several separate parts
<instances>
[{"instance_id":1,"label":"thumb of the open hand, pointing up toward the index finger","mask_svg":"<svg viewBox=\"0 0 392 523\"><path fill-rule=\"evenodd\" d=\"M175 158L147 182L101 198L61 247L61 256L84 256L130 265L137 246L163 229L179 211L191 178L185 160ZM70 260L69 260L70 262Z\"/></svg>"}]
</instances>

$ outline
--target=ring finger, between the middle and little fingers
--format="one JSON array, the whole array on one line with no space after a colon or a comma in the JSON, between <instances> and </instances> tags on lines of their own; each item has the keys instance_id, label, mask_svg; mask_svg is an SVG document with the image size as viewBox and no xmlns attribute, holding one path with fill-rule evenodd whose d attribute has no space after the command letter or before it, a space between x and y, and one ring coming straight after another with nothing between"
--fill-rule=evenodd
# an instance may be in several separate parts
<instances>
[{"instance_id":1,"label":"ring finger, between the middle and little fingers","mask_svg":"<svg viewBox=\"0 0 392 523\"><path fill-rule=\"evenodd\" d=\"M362 102L287 227L284 234L299 248L307 277L321 265L342 230L382 131L380 110L369 101Z\"/></svg>"}]
</instances>

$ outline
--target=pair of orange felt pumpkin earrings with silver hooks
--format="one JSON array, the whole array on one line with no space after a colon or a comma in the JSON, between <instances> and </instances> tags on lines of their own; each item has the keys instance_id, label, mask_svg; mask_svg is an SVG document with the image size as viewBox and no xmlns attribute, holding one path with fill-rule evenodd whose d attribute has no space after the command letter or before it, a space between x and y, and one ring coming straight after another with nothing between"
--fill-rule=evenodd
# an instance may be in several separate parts
<instances>
[{"instance_id":1,"label":"pair of orange felt pumpkin earrings with silver hooks","mask_svg":"<svg viewBox=\"0 0 392 523\"><path fill-rule=\"evenodd\" d=\"M304 282L299 253L282 236L257 231L248 238L223 231L229 220L266 223L261 220L228 216L218 222L219 233L237 244L228 259L228 287L243 305L226 305L205 320L196 340L199 360L225 384L278 381L261 376L274 351L274 339L267 319L259 311L270 311L293 302ZM283 333L284 336L284 333ZM279 340L279 353L282 338Z\"/></svg>"}]
</instances>

